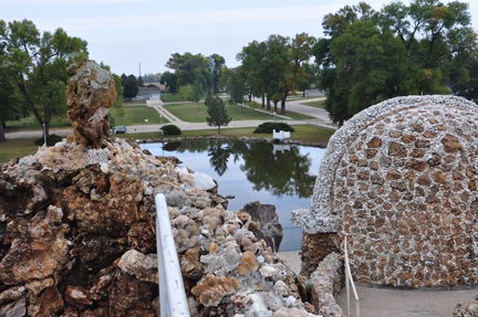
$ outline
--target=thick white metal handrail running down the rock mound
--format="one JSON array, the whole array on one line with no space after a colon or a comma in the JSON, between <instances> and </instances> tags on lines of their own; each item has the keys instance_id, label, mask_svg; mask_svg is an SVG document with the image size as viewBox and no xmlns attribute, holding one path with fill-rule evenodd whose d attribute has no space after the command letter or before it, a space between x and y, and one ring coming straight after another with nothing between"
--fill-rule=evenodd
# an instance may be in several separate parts
<instances>
[{"instance_id":1,"label":"thick white metal handrail running down the rock mound","mask_svg":"<svg viewBox=\"0 0 478 317\"><path fill-rule=\"evenodd\" d=\"M176 244L167 210L166 198L158 193L156 202L156 246L159 271L160 316L190 316L183 284Z\"/></svg>"}]
</instances>

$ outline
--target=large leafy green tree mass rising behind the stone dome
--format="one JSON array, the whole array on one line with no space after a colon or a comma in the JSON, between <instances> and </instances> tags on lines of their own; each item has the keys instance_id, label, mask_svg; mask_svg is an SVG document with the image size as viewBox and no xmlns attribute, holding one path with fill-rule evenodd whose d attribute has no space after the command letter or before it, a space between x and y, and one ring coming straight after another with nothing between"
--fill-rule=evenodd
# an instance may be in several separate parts
<instances>
[{"instance_id":1,"label":"large leafy green tree mass rising behind the stone dome","mask_svg":"<svg viewBox=\"0 0 478 317\"><path fill-rule=\"evenodd\" d=\"M321 66L325 109L340 125L383 99L411 94L447 94L450 67L466 82L466 61L477 52L468 4L413 0L381 12L368 4L344 7L323 20L313 47ZM455 85L457 86L457 85Z\"/></svg>"}]
</instances>

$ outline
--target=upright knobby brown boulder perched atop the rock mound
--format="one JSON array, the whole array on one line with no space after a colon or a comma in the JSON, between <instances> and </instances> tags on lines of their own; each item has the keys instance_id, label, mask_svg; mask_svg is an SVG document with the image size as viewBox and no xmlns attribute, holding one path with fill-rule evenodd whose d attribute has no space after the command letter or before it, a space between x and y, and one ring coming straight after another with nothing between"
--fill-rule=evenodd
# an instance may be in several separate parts
<instances>
[{"instance_id":1,"label":"upright knobby brown boulder perched atop the rock mound","mask_svg":"<svg viewBox=\"0 0 478 317\"><path fill-rule=\"evenodd\" d=\"M66 72L67 115L74 128L69 142L97 148L102 138L111 136L108 109L116 98L116 84L108 71L86 59L75 62Z\"/></svg>"}]
</instances>

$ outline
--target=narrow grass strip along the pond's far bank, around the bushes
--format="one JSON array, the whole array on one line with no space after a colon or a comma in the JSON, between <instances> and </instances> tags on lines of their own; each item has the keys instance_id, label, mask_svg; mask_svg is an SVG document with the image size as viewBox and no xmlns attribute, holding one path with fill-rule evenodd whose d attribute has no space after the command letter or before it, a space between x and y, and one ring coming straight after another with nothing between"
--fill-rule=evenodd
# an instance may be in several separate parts
<instances>
[{"instance_id":1,"label":"narrow grass strip along the pond's far bank, around the bushes","mask_svg":"<svg viewBox=\"0 0 478 317\"><path fill-rule=\"evenodd\" d=\"M291 133L291 139L293 140L302 140L308 142L328 142L330 137L334 134L335 130L321 128L316 126L292 126L295 130ZM221 133L218 134L217 129L214 130L187 130L183 131L180 136L163 136L160 133L146 133L146 134L126 134L126 135L115 135L119 138L128 138L128 139L156 139L162 137L212 137L212 136L221 136L221 137L263 137L271 138L272 134L253 134L256 128L237 128L237 129L225 129L221 128Z\"/></svg>"}]
</instances>

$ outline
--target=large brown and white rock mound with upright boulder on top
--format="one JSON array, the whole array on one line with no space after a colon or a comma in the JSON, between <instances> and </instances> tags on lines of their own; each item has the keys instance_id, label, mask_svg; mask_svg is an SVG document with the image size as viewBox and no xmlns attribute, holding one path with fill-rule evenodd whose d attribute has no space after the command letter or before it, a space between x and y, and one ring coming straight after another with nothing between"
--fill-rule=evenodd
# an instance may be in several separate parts
<instances>
[{"instance_id":1,"label":"large brown and white rock mound with upright boulder on top","mask_svg":"<svg viewBox=\"0 0 478 317\"><path fill-rule=\"evenodd\" d=\"M70 70L74 136L0 166L0 316L158 316L156 193L191 316L308 314L250 215L173 160L111 139L111 77L91 61Z\"/></svg>"}]
</instances>

